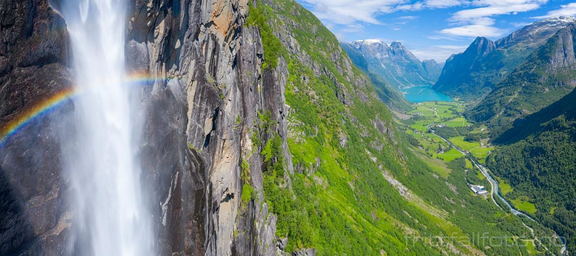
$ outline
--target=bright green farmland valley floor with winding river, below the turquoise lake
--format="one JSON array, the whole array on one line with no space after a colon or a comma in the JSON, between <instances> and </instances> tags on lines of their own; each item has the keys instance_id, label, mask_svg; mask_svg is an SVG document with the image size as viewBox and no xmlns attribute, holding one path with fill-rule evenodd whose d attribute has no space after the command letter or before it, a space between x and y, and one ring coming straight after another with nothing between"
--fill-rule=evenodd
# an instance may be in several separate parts
<instances>
[{"instance_id":1,"label":"bright green farmland valley floor with winding river, below the turquoise lake","mask_svg":"<svg viewBox=\"0 0 576 256\"><path fill-rule=\"evenodd\" d=\"M497 189L501 196L506 197L512 191L510 185L507 184L505 179L496 177L494 174L479 171L478 167L484 169L485 167L475 167L471 162L472 160L479 165L484 165L488 155L495 150L495 147L489 143L490 131L486 126L471 123L462 116L461 113L466 106L467 104L462 101L415 103L412 104L413 109L407 113L410 116L409 119L406 116L402 116L395 121L406 133L412 150L427 163L430 169L435 172L435 175L445 179L453 176L462 176L468 186L484 186L490 193L476 195L472 190L469 190L470 195L492 201L492 207L499 209L498 215L510 214L510 208L506 206L506 202L503 202L502 198L494 196L494 189ZM449 143L443 138L447 139ZM454 173L455 171L461 171L453 167L456 162L465 163L465 166L463 166L464 175ZM492 177L494 177L494 180L492 180ZM493 182L497 182L497 184L493 184ZM506 200L513 205L513 208L522 213L532 215L536 211L535 205L529 202L527 198L506 198ZM518 214L522 216L522 213ZM525 249L521 251L527 251L529 255L559 253L562 249L560 243L551 241L554 239L548 239L548 242L543 242L545 239L539 239L547 238L549 234L554 233L553 231L544 228L531 218L517 218L522 219L524 226L532 234L532 237L518 239L521 244L520 247Z\"/></svg>"}]
</instances>

